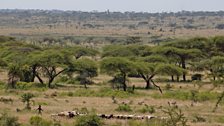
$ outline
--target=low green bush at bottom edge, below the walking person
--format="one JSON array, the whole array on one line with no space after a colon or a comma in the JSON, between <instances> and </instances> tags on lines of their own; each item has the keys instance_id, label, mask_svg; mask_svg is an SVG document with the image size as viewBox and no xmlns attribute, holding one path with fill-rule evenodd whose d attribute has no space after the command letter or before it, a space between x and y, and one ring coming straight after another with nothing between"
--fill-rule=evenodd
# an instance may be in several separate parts
<instances>
[{"instance_id":1,"label":"low green bush at bottom edge, below the walking person","mask_svg":"<svg viewBox=\"0 0 224 126\"><path fill-rule=\"evenodd\" d=\"M29 120L31 126L52 126L52 121L47 121L39 116L33 116Z\"/></svg>"}]
</instances>

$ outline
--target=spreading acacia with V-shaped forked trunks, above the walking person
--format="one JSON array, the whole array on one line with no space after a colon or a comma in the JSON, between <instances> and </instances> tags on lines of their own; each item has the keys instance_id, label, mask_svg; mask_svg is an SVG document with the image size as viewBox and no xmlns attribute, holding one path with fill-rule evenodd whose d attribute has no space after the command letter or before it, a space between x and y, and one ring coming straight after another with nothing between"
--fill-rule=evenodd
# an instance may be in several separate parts
<instances>
[{"instance_id":1,"label":"spreading acacia with V-shaped forked trunks, above the walking person","mask_svg":"<svg viewBox=\"0 0 224 126\"><path fill-rule=\"evenodd\" d=\"M69 69L68 63L70 61L68 58L56 50L45 50L38 52L33 58L33 64L35 64L36 69L35 76L39 79L40 83L44 83L41 75L48 78L48 87L51 87L51 83L54 79Z\"/></svg>"}]
</instances>

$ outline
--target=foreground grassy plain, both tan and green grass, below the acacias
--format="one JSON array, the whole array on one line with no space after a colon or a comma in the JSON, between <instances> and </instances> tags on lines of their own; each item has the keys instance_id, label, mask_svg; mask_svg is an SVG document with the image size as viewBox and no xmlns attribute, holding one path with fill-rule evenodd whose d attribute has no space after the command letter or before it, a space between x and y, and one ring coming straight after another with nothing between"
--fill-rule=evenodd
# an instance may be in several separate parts
<instances>
[{"instance_id":1,"label":"foreground grassy plain, both tan and green grass, below the acacias","mask_svg":"<svg viewBox=\"0 0 224 126\"><path fill-rule=\"evenodd\" d=\"M63 111L72 111L77 109L94 110L96 113L103 114L135 114L135 115L154 115L158 117L166 117L162 112L164 107L168 107L168 102L176 103L183 111L188 119L188 124L195 126L221 126L224 123L224 106L219 106L216 112L212 112L217 97L223 88L217 88L211 92L210 84L205 84L200 88L196 95L196 101L191 94L192 90L197 89L197 85L191 82L188 83L172 83L172 88L167 89L168 82L157 82L164 90L160 94L156 89L145 90L144 82L138 78L132 78L131 85L136 85L134 93L114 91L110 85L105 83L109 77L100 76L96 78L98 83L88 86L85 89L82 85L70 84L60 85L55 89L46 88L30 88L30 89L1 89L0 94L2 98L13 99L11 102L0 102L0 111L7 111L11 115L19 117L19 122L28 123L29 119L37 115L35 110L38 105L43 106L43 114L41 115L48 120L58 120L63 125L72 125L74 119L64 117L51 117L51 114L60 113ZM21 95L26 92L32 92L35 97L32 99L32 110L25 111L24 103L21 102ZM115 97L114 103L112 97ZM131 108L129 112L116 111L119 105L128 104ZM141 109L144 106L153 106L154 113L142 113ZM202 118L200 120L198 118ZM131 120L104 120L105 125L137 125L145 121L131 121Z\"/></svg>"}]
</instances>

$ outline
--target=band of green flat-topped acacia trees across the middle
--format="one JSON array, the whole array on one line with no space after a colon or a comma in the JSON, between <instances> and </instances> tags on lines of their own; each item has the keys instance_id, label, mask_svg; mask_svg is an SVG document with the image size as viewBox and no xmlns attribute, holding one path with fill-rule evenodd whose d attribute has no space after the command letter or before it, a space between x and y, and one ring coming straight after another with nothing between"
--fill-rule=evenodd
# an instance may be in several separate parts
<instances>
[{"instance_id":1,"label":"band of green flat-topped acacia trees across the middle","mask_svg":"<svg viewBox=\"0 0 224 126\"><path fill-rule=\"evenodd\" d=\"M224 80L224 37L178 39L158 46L129 44L108 45L100 50L82 46L51 46L19 42L13 37L0 37L0 66L8 73L8 87L18 82L39 81L51 88L56 78L66 76L91 83L101 74L112 76L113 88L127 91L128 78L145 81L145 88L157 87L154 78L170 76L170 81L189 81L195 72L211 81ZM193 77L192 77L193 79ZM194 78L195 79L195 78Z\"/></svg>"}]
</instances>

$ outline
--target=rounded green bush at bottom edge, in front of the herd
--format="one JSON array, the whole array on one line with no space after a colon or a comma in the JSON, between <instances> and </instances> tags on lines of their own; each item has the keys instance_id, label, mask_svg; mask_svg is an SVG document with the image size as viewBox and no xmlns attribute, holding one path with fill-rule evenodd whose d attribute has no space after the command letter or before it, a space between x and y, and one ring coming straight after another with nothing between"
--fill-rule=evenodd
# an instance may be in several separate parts
<instances>
[{"instance_id":1,"label":"rounded green bush at bottom edge, in front of the herd","mask_svg":"<svg viewBox=\"0 0 224 126\"><path fill-rule=\"evenodd\" d=\"M76 119L75 126L102 126L103 122L97 115L79 116Z\"/></svg>"}]
</instances>

